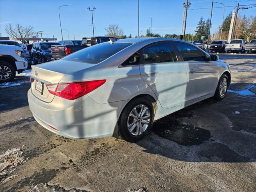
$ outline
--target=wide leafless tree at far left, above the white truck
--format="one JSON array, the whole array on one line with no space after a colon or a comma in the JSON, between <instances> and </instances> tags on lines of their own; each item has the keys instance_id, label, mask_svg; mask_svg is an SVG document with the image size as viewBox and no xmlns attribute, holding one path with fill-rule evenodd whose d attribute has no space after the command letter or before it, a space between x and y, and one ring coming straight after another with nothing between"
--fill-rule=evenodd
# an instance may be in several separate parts
<instances>
[{"instance_id":1,"label":"wide leafless tree at far left, above the white truck","mask_svg":"<svg viewBox=\"0 0 256 192\"><path fill-rule=\"evenodd\" d=\"M22 26L19 23L16 23L15 26L12 26L10 23L7 24L5 26L5 31L11 38L16 38L22 43L25 43L26 38L31 37L35 33L33 26Z\"/></svg>"}]
</instances>

